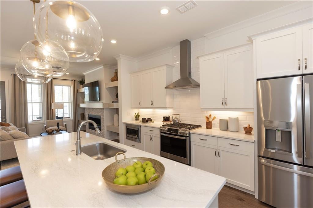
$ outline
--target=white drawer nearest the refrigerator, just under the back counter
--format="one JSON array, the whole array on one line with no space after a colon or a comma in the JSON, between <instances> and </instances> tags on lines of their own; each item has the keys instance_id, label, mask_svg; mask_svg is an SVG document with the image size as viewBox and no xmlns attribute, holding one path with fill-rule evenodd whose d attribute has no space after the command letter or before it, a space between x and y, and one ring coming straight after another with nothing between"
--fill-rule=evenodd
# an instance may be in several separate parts
<instances>
[{"instance_id":1,"label":"white drawer nearest the refrigerator, just under the back counter","mask_svg":"<svg viewBox=\"0 0 313 208\"><path fill-rule=\"evenodd\" d=\"M234 150L254 152L254 143L248 141L239 141L234 139L225 139L218 137L218 146L226 147Z\"/></svg>"}]
</instances>

